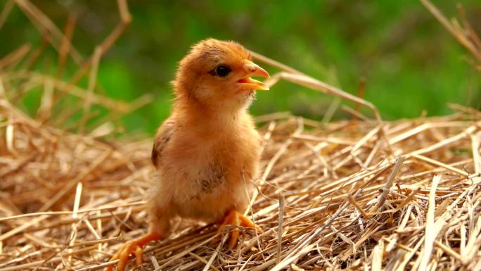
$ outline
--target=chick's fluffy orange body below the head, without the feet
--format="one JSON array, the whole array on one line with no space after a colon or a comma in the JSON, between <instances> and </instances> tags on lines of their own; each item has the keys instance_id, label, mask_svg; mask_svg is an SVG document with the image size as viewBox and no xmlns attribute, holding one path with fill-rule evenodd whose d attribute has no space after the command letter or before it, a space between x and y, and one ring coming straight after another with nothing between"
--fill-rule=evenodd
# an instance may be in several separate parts
<instances>
[{"instance_id":1,"label":"chick's fluffy orange body below the head, without the feet","mask_svg":"<svg viewBox=\"0 0 481 271\"><path fill-rule=\"evenodd\" d=\"M153 231L165 232L169 218L177 215L217 222L229 210L243 212L259 175L259 135L248 113L207 120L203 113L185 113L174 113L155 139L158 179L149 202Z\"/></svg>"}]
</instances>

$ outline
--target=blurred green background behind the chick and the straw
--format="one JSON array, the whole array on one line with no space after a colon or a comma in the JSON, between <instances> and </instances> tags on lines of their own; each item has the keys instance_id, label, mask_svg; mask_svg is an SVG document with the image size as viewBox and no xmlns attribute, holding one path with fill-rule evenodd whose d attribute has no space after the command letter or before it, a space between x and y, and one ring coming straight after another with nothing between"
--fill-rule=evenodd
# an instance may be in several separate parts
<instances>
[{"instance_id":1,"label":"blurred green background behind the chick and the straw","mask_svg":"<svg viewBox=\"0 0 481 271\"><path fill-rule=\"evenodd\" d=\"M481 1L458 2L481 33ZM450 18L458 14L458 2L435 4ZM0 8L5 3L0 1ZM32 3L60 29L70 13L77 14L72 43L85 57L120 20L116 1ZM129 9L132 24L98 70L98 83L108 96L124 101L146 93L155 97L123 118L127 130L155 131L169 114L169 82L177 62L191 44L207 37L236 40L352 94L365 78L365 99L386 120L447 114L448 102L481 107L481 77L468 62L471 56L416 0L129 1ZM38 46L41 39L15 6L0 29L0 58L25 42ZM35 68L55 74L56 52L48 49L44 55ZM74 68L69 65L66 80ZM81 84L86 87L86 80ZM290 111L321 119L332 101L333 96L281 82L259 93L251 111ZM25 101L27 109L35 104ZM351 116L338 111L335 118Z\"/></svg>"}]
</instances>

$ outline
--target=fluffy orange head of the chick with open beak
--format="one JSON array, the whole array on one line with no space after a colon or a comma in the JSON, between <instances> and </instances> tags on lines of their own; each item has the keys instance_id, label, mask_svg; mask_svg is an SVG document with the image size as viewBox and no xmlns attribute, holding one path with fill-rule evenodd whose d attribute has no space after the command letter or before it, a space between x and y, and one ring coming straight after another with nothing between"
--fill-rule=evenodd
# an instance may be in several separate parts
<instances>
[{"instance_id":1,"label":"fluffy orange head of the chick with open beak","mask_svg":"<svg viewBox=\"0 0 481 271\"><path fill-rule=\"evenodd\" d=\"M269 77L269 73L252 62L241 44L205 39L179 63L175 94L209 108L236 110L248 106L256 90L269 89L251 77Z\"/></svg>"}]
</instances>

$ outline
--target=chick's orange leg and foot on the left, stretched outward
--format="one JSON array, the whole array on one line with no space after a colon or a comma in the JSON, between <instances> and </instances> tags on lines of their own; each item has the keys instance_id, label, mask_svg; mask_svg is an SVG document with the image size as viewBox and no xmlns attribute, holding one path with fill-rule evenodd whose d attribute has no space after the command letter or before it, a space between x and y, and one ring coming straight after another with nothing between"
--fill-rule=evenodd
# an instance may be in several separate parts
<instances>
[{"instance_id":1,"label":"chick's orange leg and foot on the left, stretched outward","mask_svg":"<svg viewBox=\"0 0 481 271\"><path fill-rule=\"evenodd\" d=\"M124 271L125 265L127 265L127 260L129 256L134 253L135 255L135 263L136 265L142 264L142 256L143 256L143 246L145 246L150 241L159 240L161 236L154 232L150 232L143 237L139 237L134 240L130 240L125 242L125 244L117 251L117 253L110 258L112 260L119 260L117 263L117 271ZM112 271L113 265L107 267L107 271Z\"/></svg>"}]
</instances>

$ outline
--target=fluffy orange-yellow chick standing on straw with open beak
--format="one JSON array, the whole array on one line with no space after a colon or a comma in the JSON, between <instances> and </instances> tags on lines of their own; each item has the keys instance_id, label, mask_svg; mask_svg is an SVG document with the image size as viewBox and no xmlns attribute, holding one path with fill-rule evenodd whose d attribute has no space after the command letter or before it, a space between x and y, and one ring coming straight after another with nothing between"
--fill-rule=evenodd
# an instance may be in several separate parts
<instances>
[{"instance_id":1,"label":"fluffy orange-yellow chick standing on straw with open beak","mask_svg":"<svg viewBox=\"0 0 481 271\"><path fill-rule=\"evenodd\" d=\"M236 42L205 39L185 56L173 82L172 115L158 129L152 162L158 170L148 201L149 233L127 241L110 259L124 270L129 255L142 261L143 246L169 234L173 218L255 227L241 213L259 176L259 134L248 107L269 77ZM229 245L235 246L238 229ZM112 266L108 268L112 270Z\"/></svg>"}]
</instances>

